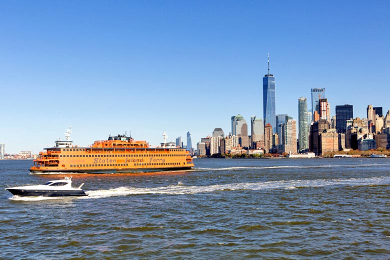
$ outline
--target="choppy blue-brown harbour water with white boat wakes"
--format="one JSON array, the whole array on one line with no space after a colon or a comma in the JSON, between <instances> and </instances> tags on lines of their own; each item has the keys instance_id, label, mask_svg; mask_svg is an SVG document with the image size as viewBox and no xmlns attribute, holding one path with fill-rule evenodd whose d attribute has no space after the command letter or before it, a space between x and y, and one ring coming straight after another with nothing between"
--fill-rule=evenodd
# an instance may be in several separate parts
<instances>
[{"instance_id":1,"label":"choppy blue-brown harbour water with white boat wakes","mask_svg":"<svg viewBox=\"0 0 390 260\"><path fill-rule=\"evenodd\" d=\"M195 159L73 174L88 197L0 191L0 259L389 259L390 159ZM0 185L37 184L0 161Z\"/></svg>"}]
</instances>

